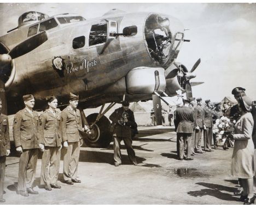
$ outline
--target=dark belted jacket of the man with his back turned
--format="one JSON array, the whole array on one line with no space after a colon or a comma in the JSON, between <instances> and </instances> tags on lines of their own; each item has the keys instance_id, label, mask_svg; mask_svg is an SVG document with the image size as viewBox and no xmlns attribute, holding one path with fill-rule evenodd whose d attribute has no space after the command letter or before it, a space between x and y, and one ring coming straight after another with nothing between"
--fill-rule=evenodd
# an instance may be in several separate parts
<instances>
[{"instance_id":1,"label":"dark belted jacket of the man with his back turned","mask_svg":"<svg viewBox=\"0 0 256 208\"><path fill-rule=\"evenodd\" d=\"M177 133L193 133L191 123L194 122L194 112L189 107L176 109L174 125Z\"/></svg>"}]
</instances>

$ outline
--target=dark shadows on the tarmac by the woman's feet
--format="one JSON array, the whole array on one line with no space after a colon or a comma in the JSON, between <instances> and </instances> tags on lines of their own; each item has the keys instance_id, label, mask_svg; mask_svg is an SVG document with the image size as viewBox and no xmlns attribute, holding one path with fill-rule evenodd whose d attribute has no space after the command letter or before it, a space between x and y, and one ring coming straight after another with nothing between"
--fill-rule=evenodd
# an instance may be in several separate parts
<instances>
[{"instance_id":1,"label":"dark shadows on the tarmac by the woman's feet","mask_svg":"<svg viewBox=\"0 0 256 208\"><path fill-rule=\"evenodd\" d=\"M205 182L199 182L196 183L197 185L205 186L207 188L201 189L200 191L189 191L188 195L191 195L193 197L202 197L204 195L210 195L212 197L216 197L220 200L225 200L225 201L237 201L237 197L234 197L232 194L235 192L237 189L234 187L228 187L228 186L223 186L223 185L218 185L214 183L205 183ZM225 192L230 192L230 193L224 193Z\"/></svg>"}]
</instances>

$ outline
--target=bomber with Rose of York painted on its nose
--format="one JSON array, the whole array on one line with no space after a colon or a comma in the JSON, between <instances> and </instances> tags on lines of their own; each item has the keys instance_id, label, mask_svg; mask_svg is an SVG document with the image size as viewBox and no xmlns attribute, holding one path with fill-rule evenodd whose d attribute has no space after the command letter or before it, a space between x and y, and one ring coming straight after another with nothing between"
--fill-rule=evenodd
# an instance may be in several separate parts
<instances>
[{"instance_id":1,"label":"bomber with Rose of York painted on its nose","mask_svg":"<svg viewBox=\"0 0 256 208\"><path fill-rule=\"evenodd\" d=\"M190 71L175 62L184 41L189 40L182 23L165 14L112 9L85 20L76 14L49 17L28 11L19 17L18 27L0 37L3 113L22 109L25 94L34 95L34 109L40 111L46 96L57 96L63 109L69 92L79 94L83 123L91 129L85 142L107 146L110 121L104 114L115 103L153 96L160 115L163 97L177 95L179 89L192 96L190 79L200 59ZM100 112L85 117L83 109L98 106Z\"/></svg>"}]
</instances>

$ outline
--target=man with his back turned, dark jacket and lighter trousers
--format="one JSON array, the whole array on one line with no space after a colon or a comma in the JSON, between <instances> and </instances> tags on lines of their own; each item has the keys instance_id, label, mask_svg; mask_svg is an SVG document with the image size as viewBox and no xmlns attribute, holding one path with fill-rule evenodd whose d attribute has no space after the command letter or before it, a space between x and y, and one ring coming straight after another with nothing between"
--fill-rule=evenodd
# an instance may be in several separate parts
<instances>
[{"instance_id":1,"label":"man with his back turned, dark jacket and lighter trousers","mask_svg":"<svg viewBox=\"0 0 256 208\"><path fill-rule=\"evenodd\" d=\"M177 155L179 160L184 157L184 143L187 143L187 160L191 158L191 136L193 133L192 123L194 123L194 112L189 107L189 100L183 99L184 106L177 108L174 118L175 129L177 132L177 142L179 143Z\"/></svg>"}]
</instances>

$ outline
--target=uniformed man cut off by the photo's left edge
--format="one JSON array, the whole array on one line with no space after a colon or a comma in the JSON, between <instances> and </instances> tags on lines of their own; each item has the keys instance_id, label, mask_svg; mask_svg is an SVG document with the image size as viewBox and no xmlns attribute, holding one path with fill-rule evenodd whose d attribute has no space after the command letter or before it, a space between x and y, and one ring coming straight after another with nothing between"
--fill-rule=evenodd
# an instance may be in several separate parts
<instances>
[{"instance_id":1,"label":"uniformed man cut off by the photo's left edge","mask_svg":"<svg viewBox=\"0 0 256 208\"><path fill-rule=\"evenodd\" d=\"M10 155L9 122L7 115L1 113L2 100L0 99L0 203L4 203L4 174L6 157Z\"/></svg>"}]
</instances>

